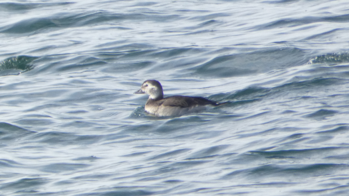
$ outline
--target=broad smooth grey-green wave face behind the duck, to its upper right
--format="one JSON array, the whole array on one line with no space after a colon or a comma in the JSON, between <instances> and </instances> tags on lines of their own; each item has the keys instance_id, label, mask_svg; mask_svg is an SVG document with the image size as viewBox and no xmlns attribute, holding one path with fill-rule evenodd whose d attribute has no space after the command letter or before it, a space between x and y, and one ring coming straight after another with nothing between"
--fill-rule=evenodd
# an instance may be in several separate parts
<instances>
[{"instance_id":1,"label":"broad smooth grey-green wave face behind the duck, to its upper right","mask_svg":"<svg viewBox=\"0 0 349 196\"><path fill-rule=\"evenodd\" d=\"M280 61L284 63L280 64ZM304 51L299 48L270 48L247 54L217 56L191 70L206 77L233 77L288 68L305 62Z\"/></svg>"}]
</instances>

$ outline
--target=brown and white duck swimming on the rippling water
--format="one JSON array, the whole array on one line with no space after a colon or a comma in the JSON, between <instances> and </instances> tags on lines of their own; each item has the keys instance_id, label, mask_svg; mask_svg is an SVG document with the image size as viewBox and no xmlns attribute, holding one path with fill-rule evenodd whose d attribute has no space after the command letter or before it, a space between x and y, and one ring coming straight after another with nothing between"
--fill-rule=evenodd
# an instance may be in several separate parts
<instances>
[{"instance_id":1,"label":"brown and white duck swimming on the rippling water","mask_svg":"<svg viewBox=\"0 0 349 196\"><path fill-rule=\"evenodd\" d=\"M157 80L146 80L134 94L147 94L149 98L144 110L154 116L182 116L197 113L208 107L222 105L203 97L174 95L164 98L162 85Z\"/></svg>"}]
</instances>

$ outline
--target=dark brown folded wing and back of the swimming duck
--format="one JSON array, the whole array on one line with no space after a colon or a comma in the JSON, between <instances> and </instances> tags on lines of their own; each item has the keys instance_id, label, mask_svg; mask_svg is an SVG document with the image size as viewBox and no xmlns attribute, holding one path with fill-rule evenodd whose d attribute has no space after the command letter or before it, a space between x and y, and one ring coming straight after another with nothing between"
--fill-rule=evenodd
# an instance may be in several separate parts
<instances>
[{"instance_id":1,"label":"dark brown folded wing and back of the swimming duck","mask_svg":"<svg viewBox=\"0 0 349 196\"><path fill-rule=\"evenodd\" d=\"M189 96L170 96L162 99L163 106L170 107L192 107L198 105L218 105L215 101L205 99L203 97L189 97Z\"/></svg>"}]
</instances>

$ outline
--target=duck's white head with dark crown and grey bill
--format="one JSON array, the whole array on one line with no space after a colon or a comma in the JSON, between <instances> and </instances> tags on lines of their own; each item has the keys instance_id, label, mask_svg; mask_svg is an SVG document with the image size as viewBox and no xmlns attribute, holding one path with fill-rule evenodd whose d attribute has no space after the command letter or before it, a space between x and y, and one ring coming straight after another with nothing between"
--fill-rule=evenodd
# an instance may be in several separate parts
<instances>
[{"instance_id":1,"label":"duck's white head with dark crown and grey bill","mask_svg":"<svg viewBox=\"0 0 349 196\"><path fill-rule=\"evenodd\" d=\"M143 82L141 89L134 92L135 94L148 94L149 99L159 100L164 98L162 86L157 80L146 80Z\"/></svg>"}]
</instances>

